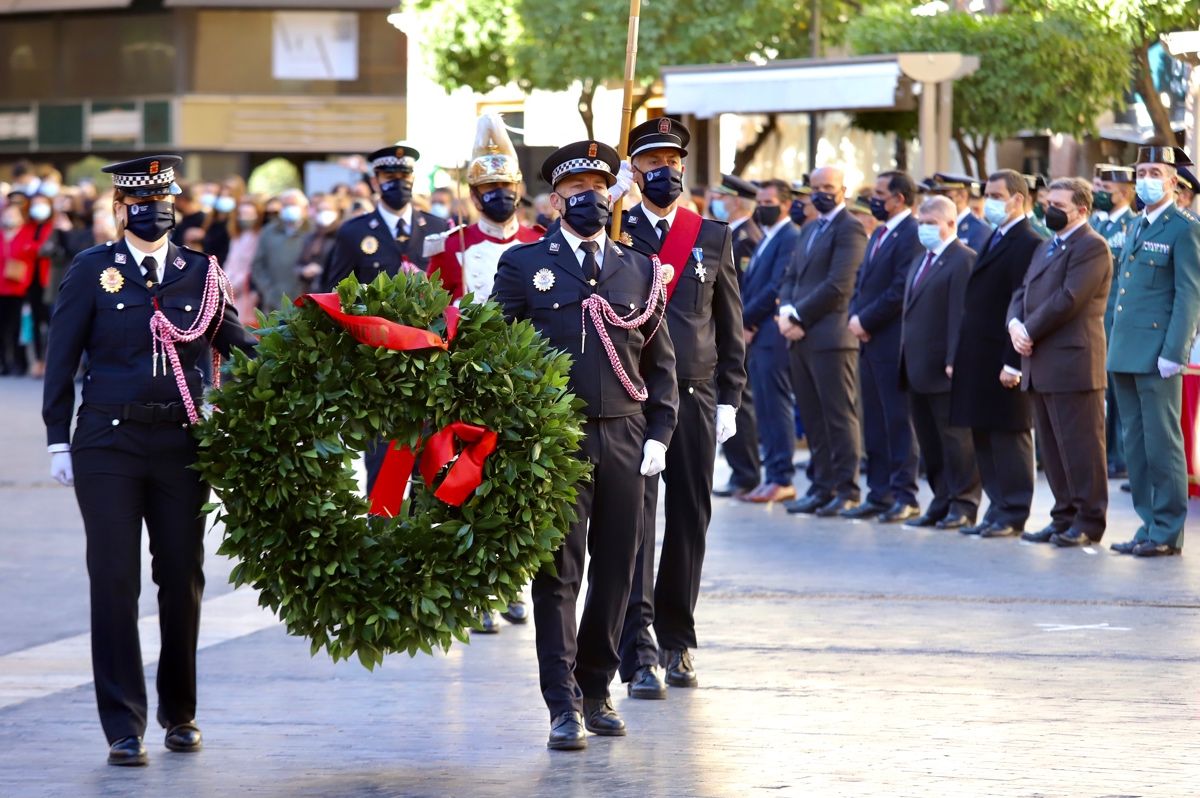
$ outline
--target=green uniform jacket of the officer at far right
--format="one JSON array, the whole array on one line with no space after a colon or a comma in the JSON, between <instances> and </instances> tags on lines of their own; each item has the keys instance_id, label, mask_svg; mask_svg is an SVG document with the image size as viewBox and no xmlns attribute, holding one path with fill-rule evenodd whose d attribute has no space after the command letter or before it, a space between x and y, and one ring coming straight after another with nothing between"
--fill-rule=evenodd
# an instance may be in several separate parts
<instances>
[{"instance_id":1,"label":"green uniform jacket of the officer at far right","mask_svg":"<svg viewBox=\"0 0 1200 798\"><path fill-rule=\"evenodd\" d=\"M1200 317L1200 224L1174 204L1139 235L1144 218L1129 224L1117 258L1111 372L1153 373L1159 358L1187 364Z\"/></svg>"}]
</instances>

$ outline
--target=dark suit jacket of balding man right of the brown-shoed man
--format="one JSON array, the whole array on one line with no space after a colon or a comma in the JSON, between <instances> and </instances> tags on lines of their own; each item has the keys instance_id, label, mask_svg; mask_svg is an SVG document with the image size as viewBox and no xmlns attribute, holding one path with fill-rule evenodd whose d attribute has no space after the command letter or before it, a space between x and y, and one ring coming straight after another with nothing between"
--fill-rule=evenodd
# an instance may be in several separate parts
<instances>
[{"instance_id":1,"label":"dark suit jacket of balding man right of the brown-shoed man","mask_svg":"<svg viewBox=\"0 0 1200 798\"><path fill-rule=\"evenodd\" d=\"M845 208L833 216L823 232L820 221L800 230L779 288L780 307L794 307L804 326L804 340L799 344L811 350L858 349L858 338L846 324L864 252L866 230Z\"/></svg>"}]
</instances>

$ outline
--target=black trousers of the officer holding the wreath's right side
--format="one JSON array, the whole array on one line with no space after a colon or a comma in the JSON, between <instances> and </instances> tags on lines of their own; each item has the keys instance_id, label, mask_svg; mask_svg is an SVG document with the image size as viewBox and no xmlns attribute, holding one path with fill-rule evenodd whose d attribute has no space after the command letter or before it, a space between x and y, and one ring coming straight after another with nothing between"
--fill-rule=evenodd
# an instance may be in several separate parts
<instances>
[{"instance_id":1,"label":"black trousers of the officer holding the wreath's right side","mask_svg":"<svg viewBox=\"0 0 1200 798\"><path fill-rule=\"evenodd\" d=\"M588 419L583 432L592 481L578 487L578 520L554 552L556 572L544 568L533 578L538 671L551 718L581 712L583 697L608 695L642 535L644 416ZM588 595L576 630L584 551Z\"/></svg>"}]
</instances>

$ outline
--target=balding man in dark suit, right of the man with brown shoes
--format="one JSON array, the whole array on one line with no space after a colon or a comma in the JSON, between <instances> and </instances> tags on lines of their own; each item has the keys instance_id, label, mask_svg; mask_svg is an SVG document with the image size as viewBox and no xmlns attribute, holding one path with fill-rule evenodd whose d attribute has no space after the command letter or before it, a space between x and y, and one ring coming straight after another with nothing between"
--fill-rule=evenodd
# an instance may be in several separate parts
<instances>
[{"instance_id":1,"label":"balding man in dark suit, right of the man with brown shoes","mask_svg":"<svg viewBox=\"0 0 1200 798\"><path fill-rule=\"evenodd\" d=\"M847 326L847 310L866 233L846 212L841 169L822 167L811 180L820 216L805 226L784 275L779 334L788 342L792 391L812 457L809 496L788 511L828 517L859 497L858 338Z\"/></svg>"}]
</instances>

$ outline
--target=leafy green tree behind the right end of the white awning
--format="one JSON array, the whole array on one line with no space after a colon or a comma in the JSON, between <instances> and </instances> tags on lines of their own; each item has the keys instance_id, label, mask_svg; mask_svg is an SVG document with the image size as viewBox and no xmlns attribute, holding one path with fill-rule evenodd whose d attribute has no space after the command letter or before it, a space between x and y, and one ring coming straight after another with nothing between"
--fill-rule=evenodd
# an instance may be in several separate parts
<instances>
[{"instance_id":1,"label":"leafy green tree behind the right end of the white awning","mask_svg":"<svg viewBox=\"0 0 1200 798\"><path fill-rule=\"evenodd\" d=\"M979 56L979 70L954 84L952 133L964 164L986 174L991 142L1021 131L1072 136L1094 131L1094 120L1128 85L1120 35L1078 8L1012 10L1000 14L914 16L907 4L872 7L847 29L857 54L960 52ZM868 130L911 136L916 114L860 114Z\"/></svg>"}]
</instances>

